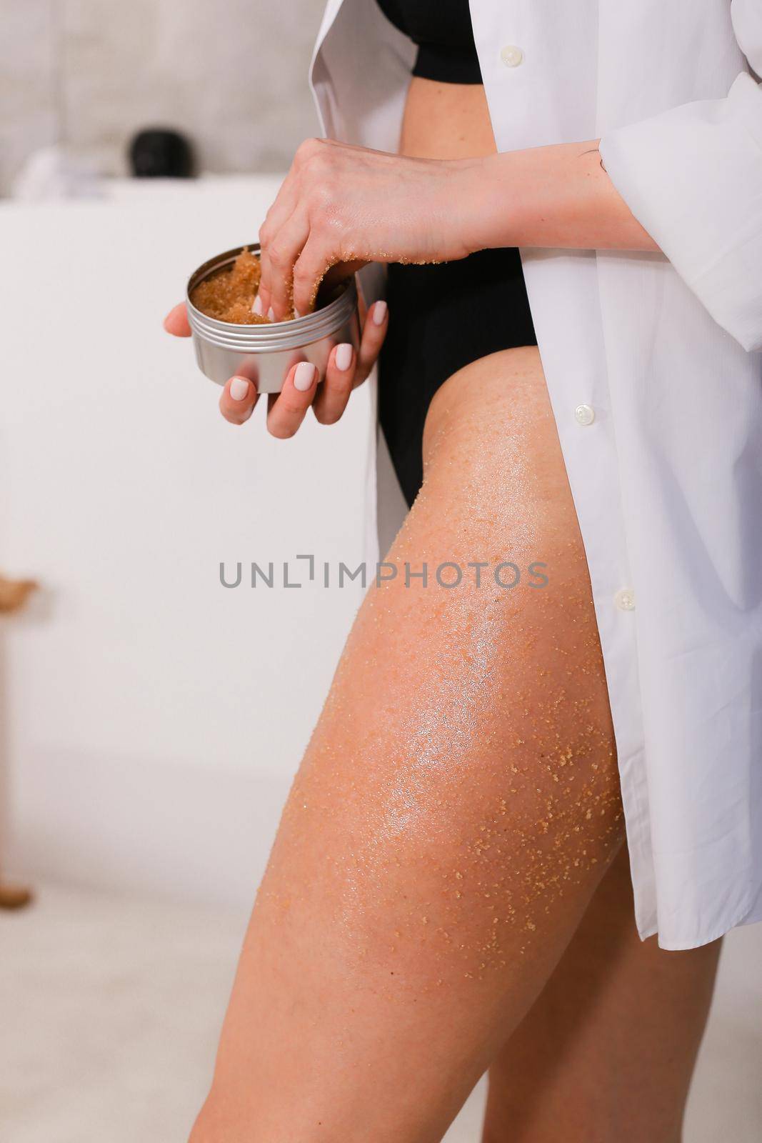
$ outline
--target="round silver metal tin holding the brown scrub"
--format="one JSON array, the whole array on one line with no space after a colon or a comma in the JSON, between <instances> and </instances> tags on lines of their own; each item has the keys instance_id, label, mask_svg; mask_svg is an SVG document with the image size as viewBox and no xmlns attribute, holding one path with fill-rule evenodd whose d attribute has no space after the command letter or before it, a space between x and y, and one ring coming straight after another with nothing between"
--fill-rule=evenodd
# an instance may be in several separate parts
<instances>
[{"instance_id":1,"label":"round silver metal tin holding the brown scrub","mask_svg":"<svg viewBox=\"0 0 762 1143\"><path fill-rule=\"evenodd\" d=\"M252 254L258 242L248 242ZM228 377L248 377L260 393L279 393L286 375L297 361L318 366L320 379L326 374L328 354L340 342L360 347L358 289L354 277L340 282L314 313L292 321L241 326L217 321L191 304L191 290L217 270L231 265L243 246L226 250L204 262L187 282L185 304L193 333L199 369L210 381L224 385Z\"/></svg>"}]
</instances>

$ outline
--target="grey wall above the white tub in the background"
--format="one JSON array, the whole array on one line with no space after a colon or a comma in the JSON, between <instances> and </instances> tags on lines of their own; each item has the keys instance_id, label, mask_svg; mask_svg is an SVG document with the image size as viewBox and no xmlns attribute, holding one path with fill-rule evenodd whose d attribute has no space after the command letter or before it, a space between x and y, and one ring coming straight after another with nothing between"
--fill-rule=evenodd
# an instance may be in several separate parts
<instances>
[{"instance_id":1,"label":"grey wall above the white tub in the background","mask_svg":"<svg viewBox=\"0 0 762 1143\"><path fill-rule=\"evenodd\" d=\"M0 193L63 142L125 171L138 127L187 131L212 171L282 170L316 130L322 0L0 0Z\"/></svg>"}]
</instances>

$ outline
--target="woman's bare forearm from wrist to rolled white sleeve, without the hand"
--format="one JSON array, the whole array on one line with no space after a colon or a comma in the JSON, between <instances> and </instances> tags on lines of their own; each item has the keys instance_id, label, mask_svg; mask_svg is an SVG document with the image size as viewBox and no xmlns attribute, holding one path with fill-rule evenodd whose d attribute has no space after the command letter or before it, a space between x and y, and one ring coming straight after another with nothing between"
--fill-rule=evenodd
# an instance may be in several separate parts
<instances>
[{"instance_id":1,"label":"woman's bare forearm from wrist to rolled white sleeve, without the hand","mask_svg":"<svg viewBox=\"0 0 762 1143\"><path fill-rule=\"evenodd\" d=\"M482 160L474 249L658 250L603 169L597 142L506 151Z\"/></svg>"}]
</instances>

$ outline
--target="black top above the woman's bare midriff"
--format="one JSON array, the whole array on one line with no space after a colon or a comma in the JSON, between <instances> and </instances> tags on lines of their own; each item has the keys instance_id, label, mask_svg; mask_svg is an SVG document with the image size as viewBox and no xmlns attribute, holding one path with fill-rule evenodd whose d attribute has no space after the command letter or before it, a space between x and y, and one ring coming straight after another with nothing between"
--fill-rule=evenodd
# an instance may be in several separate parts
<instances>
[{"instance_id":1,"label":"black top above the woman's bare midriff","mask_svg":"<svg viewBox=\"0 0 762 1143\"><path fill-rule=\"evenodd\" d=\"M418 45L414 75L481 83L468 0L377 0L387 19Z\"/></svg>"}]
</instances>

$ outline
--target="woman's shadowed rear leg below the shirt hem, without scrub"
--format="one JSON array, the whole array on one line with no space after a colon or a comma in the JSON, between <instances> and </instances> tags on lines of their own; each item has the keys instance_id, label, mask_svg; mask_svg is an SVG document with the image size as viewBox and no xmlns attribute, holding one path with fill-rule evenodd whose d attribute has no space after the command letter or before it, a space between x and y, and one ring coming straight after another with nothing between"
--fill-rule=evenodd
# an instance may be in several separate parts
<instances>
[{"instance_id":1,"label":"woman's shadowed rear leg below the shirt hem, without scrub","mask_svg":"<svg viewBox=\"0 0 762 1143\"><path fill-rule=\"evenodd\" d=\"M721 942L667 952L633 910L623 846L490 1065L482 1143L679 1143Z\"/></svg>"}]
</instances>

